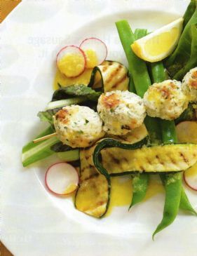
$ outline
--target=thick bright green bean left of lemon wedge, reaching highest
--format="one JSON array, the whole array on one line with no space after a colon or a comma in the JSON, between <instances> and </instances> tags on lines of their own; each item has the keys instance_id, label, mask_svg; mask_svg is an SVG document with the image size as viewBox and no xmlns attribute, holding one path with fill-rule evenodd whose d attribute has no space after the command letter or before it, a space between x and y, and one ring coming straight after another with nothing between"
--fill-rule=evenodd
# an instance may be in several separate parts
<instances>
[{"instance_id":1,"label":"thick bright green bean left of lemon wedge, reaching highest","mask_svg":"<svg viewBox=\"0 0 197 256\"><path fill-rule=\"evenodd\" d=\"M151 85L147 65L143 60L138 58L130 48L130 45L135 41L135 35L131 31L128 22L126 20L120 20L116 22L116 27L128 60L129 72L133 76L135 90L137 95L143 97L144 93Z\"/></svg>"}]
</instances>

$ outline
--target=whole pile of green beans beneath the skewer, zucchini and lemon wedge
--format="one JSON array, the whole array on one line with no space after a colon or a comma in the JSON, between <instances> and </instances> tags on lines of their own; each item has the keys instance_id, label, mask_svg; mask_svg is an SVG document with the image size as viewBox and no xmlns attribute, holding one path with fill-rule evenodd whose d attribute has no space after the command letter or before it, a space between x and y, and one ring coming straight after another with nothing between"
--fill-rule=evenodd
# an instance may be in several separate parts
<instances>
[{"instance_id":1,"label":"whole pile of green beans beneath the skewer, zucchini and lemon wedge","mask_svg":"<svg viewBox=\"0 0 197 256\"><path fill-rule=\"evenodd\" d=\"M130 45L135 40L147 34L146 29L136 29L133 33L126 20L116 22L116 27L128 60L128 69L131 76L130 91L143 97L149 86L151 86L151 83L160 83L166 79L163 62L151 63L147 67L147 63L137 58L130 48ZM149 143L177 143L174 121L165 121L147 116L144 123L149 133ZM160 177L165 188L165 205L163 219L154 231L153 239L156 233L168 227L175 220L179 208L196 214L182 187L182 172L161 174ZM133 198L130 207L136 203L140 203L144 199L148 185L148 174L133 175Z\"/></svg>"}]
</instances>

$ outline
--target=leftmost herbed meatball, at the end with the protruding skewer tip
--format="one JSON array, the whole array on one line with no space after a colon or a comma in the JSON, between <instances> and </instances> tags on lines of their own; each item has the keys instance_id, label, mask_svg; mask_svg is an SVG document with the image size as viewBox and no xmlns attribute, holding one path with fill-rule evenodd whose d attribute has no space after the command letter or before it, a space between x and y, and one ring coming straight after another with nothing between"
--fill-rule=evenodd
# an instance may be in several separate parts
<instances>
[{"instance_id":1,"label":"leftmost herbed meatball, at the end with the protruding skewer tip","mask_svg":"<svg viewBox=\"0 0 197 256\"><path fill-rule=\"evenodd\" d=\"M58 139L70 147L89 147L104 135L100 116L89 107L67 106L53 119Z\"/></svg>"}]
</instances>

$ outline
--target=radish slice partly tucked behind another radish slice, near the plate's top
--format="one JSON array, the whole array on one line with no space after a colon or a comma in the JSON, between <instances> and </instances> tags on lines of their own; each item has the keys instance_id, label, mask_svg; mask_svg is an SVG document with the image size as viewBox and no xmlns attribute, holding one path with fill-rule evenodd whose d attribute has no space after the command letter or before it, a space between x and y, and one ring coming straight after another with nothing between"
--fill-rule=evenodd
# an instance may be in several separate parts
<instances>
[{"instance_id":1,"label":"radish slice partly tucked behind another radish slice, near the plate's top","mask_svg":"<svg viewBox=\"0 0 197 256\"><path fill-rule=\"evenodd\" d=\"M107 46L100 39L91 37L82 41L79 46L86 54L86 67L100 65L107 58Z\"/></svg>"}]
</instances>

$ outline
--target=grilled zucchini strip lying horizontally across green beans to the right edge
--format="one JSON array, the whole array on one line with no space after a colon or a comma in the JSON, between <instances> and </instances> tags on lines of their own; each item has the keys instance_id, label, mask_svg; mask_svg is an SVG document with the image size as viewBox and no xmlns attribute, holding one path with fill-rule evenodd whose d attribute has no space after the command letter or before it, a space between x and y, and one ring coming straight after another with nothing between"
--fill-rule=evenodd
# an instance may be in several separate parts
<instances>
[{"instance_id":1,"label":"grilled zucchini strip lying horizontally across green beans to the right edge","mask_svg":"<svg viewBox=\"0 0 197 256\"><path fill-rule=\"evenodd\" d=\"M128 150L122 146L119 148L120 145L116 141L101 143L95 147L93 156L95 166L103 174L106 171L110 175L133 172L179 172L193 166L197 161L197 144L164 144ZM102 147L107 147L109 144L117 146L101 150ZM134 146L135 144L133 144ZM97 158L99 151L102 154L102 166Z\"/></svg>"}]
</instances>

